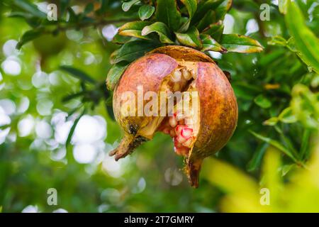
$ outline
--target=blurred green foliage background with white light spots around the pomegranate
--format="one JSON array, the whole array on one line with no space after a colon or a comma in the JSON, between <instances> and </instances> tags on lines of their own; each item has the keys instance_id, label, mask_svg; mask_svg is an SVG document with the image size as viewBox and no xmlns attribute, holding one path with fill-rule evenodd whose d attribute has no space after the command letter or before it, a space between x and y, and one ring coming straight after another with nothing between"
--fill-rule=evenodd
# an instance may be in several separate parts
<instances>
[{"instance_id":1,"label":"blurred green foliage background with white light spots around the pomegranate","mask_svg":"<svg viewBox=\"0 0 319 227\"><path fill-rule=\"evenodd\" d=\"M48 22L43 1L1 1L0 212L318 211L318 1L233 1L224 33L264 51L211 52L232 76L239 121L218 159L204 162L198 189L166 135L125 160L108 157L121 131L105 79L126 41L111 39L128 21L158 16L146 2L47 1L61 16ZM259 203L264 187L269 206Z\"/></svg>"}]
</instances>

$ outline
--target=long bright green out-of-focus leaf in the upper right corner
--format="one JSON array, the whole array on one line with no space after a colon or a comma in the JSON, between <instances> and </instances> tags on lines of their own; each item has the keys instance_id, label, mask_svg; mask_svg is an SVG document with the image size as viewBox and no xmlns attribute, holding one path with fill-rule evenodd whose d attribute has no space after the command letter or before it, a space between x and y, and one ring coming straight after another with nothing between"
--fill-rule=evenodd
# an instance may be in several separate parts
<instances>
[{"instance_id":1,"label":"long bright green out-of-focus leaf in the upper right corner","mask_svg":"<svg viewBox=\"0 0 319 227\"><path fill-rule=\"evenodd\" d=\"M288 1L285 18L298 49L297 55L308 65L308 68L319 73L319 39L306 26L306 20L296 3Z\"/></svg>"}]
</instances>

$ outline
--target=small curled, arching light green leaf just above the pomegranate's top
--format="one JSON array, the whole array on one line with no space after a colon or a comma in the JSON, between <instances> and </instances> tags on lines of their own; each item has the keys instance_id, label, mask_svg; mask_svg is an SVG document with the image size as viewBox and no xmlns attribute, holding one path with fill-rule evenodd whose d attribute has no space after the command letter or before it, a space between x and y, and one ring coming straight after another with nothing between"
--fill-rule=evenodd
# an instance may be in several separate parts
<instances>
[{"instance_id":1,"label":"small curled, arching light green leaf just above the pomegranate's top","mask_svg":"<svg viewBox=\"0 0 319 227\"><path fill-rule=\"evenodd\" d=\"M150 33L157 33L161 43L174 43L170 39L171 35L169 33L169 28L162 22L155 22L150 26L143 28L142 35L148 35Z\"/></svg>"}]
</instances>

